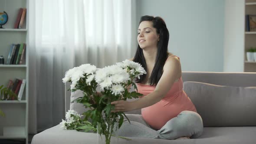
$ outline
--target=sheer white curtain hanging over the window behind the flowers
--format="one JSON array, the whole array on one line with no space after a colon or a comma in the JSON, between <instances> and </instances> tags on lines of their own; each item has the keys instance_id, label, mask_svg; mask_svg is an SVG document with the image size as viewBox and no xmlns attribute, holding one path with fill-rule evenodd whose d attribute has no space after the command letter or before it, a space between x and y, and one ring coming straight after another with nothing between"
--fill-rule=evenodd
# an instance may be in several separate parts
<instances>
[{"instance_id":1,"label":"sheer white curtain hanging over the window behind the flowers","mask_svg":"<svg viewBox=\"0 0 256 144\"><path fill-rule=\"evenodd\" d=\"M134 0L29 1L29 133L64 118L68 69L98 68L131 58L136 49Z\"/></svg>"}]
</instances>

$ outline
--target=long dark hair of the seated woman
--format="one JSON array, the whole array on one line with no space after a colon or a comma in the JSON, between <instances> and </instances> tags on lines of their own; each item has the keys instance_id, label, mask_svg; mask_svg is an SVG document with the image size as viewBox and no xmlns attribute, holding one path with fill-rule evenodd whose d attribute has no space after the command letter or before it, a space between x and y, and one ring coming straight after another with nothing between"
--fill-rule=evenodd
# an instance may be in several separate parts
<instances>
[{"instance_id":1,"label":"long dark hair of the seated woman","mask_svg":"<svg viewBox=\"0 0 256 144\"><path fill-rule=\"evenodd\" d=\"M164 63L167 59L167 46L168 46L168 41L169 41L169 31L166 27L166 24L164 20L159 17L153 17L153 16L141 16L140 23L142 21L152 21L153 22L153 27L157 29L157 33L159 34L159 41L157 44L157 56L155 59L155 64L154 68L152 70L151 76L150 76L150 85L157 85L158 81L160 80L162 74L163 74L163 67ZM140 25L139 23L139 25ZM147 64L143 55L143 50L141 47L138 45L137 51L135 53L135 57L133 58L134 62L140 63L143 68L147 71ZM146 78L146 75L142 75L141 79L136 79L137 83L141 83L144 81Z\"/></svg>"}]
</instances>

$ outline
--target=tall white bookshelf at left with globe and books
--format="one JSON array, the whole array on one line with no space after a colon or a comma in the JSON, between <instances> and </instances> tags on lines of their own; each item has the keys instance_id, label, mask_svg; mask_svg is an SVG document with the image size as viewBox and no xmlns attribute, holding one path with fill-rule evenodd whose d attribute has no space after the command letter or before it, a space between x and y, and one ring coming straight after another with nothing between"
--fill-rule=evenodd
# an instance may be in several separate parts
<instances>
[{"instance_id":1,"label":"tall white bookshelf at left with globe and books","mask_svg":"<svg viewBox=\"0 0 256 144\"><path fill-rule=\"evenodd\" d=\"M5 64L0 64L0 85L7 87L9 80L26 79L22 99L0 101L0 109L5 117L0 116L0 139L6 141L24 141L28 144L28 88L29 88L29 55L28 55L28 11L29 0L0 0L0 12L8 14L8 22L0 29L0 56ZM26 8L26 18L21 29L14 29L20 8ZM7 65L7 57L12 44L26 43L26 62L22 65Z\"/></svg>"}]
</instances>

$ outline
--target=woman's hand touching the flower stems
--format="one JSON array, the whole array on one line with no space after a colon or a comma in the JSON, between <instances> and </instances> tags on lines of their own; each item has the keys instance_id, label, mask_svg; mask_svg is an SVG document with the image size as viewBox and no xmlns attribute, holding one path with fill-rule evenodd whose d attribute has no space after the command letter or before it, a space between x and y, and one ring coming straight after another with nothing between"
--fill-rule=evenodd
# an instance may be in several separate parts
<instances>
[{"instance_id":1,"label":"woman's hand touching the flower stems","mask_svg":"<svg viewBox=\"0 0 256 144\"><path fill-rule=\"evenodd\" d=\"M134 110L134 106L132 101L112 101L111 105L115 105L115 110L111 112L119 112L119 111L132 111Z\"/></svg>"}]
</instances>

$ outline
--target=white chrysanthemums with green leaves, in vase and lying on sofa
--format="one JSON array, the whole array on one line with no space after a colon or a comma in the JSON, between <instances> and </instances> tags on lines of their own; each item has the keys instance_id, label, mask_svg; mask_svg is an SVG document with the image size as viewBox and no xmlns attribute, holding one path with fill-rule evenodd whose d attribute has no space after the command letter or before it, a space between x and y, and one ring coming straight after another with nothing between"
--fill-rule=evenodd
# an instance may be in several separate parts
<instances>
[{"instance_id":1,"label":"white chrysanthemums with green leaves, in vase and lying on sofa","mask_svg":"<svg viewBox=\"0 0 256 144\"><path fill-rule=\"evenodd\" d=\"M124 112L112 113L111 111L115 109L115 106L111 105L111 102L118 100L126 101L127 98L131 99L141 96L138 92L129 92L128 86L132 85L137 90L134 79L140 79L140 75L144 74L146 74L146 71L139 63L129 61L128 59L102 69L97 69L96 66L90 64L69 69L66 72L65 78L62 79L63 82L72 83L69 89L72 92L81 90L84 96L74 101L82 103L85 108L90 109L83 113L85 116L83 120L81 120L81 116L77 112L67 112L66 121L62 120L61 122L63 128L76 129L78 131L92 130L95 132L97 124L100 123L100 134L104 134L106 142L107 139L110 142L112 130L109 130L108 125L118 122L118 128L120 128L124 116L126 117ZM97 86L100 86L102 90L100 95L97 94ZM104 116L102 111L105 114ZM88 118L92 119L92 123L88 121ZM114 121L108 122L105 121L105 118L112 118Z\"/></svg>"}]
</instances>

